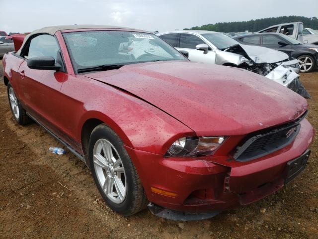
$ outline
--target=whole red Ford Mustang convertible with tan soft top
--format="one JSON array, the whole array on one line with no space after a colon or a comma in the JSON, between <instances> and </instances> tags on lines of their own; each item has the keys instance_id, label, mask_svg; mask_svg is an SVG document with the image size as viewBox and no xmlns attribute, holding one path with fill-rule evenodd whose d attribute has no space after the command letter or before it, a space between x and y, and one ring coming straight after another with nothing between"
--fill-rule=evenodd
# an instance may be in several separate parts
<instances>
[{"instance_id":1,"label":"whole red Ford Mustang convertible with tan soft top","mask_svg":"<svg viewBox=\"0 0 318 239\"><path fill-rule=\"evenodd\" d=\"M209 218L293 180L315 134L306 100L183 54L136 29L45 27L4 55L4 84L14 119L36 121L83 160L122 215L148 205Z\"/></svg>"}]
</instances>

